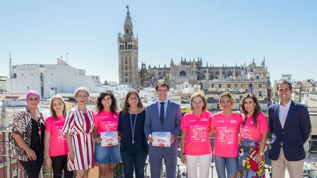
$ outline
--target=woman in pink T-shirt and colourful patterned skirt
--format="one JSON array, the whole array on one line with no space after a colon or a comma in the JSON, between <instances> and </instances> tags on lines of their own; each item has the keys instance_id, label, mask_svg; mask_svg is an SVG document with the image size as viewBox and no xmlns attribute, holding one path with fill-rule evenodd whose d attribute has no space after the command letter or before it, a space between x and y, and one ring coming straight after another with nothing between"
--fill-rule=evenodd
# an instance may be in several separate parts
<instances>
[{"instance_id":1,"label":"woman in pink T-shirt and colourful patterned skirt","mask_svg":"<svg viewBox=\"0 0 317 178\"><path fill-rule=\"evenodd\" d=\"M264 149L268 127L261 112L258 98L245 94L241 100L243 122L240 128L238 175L245 177L265 177Z\"/></svg>"}]
</instances>

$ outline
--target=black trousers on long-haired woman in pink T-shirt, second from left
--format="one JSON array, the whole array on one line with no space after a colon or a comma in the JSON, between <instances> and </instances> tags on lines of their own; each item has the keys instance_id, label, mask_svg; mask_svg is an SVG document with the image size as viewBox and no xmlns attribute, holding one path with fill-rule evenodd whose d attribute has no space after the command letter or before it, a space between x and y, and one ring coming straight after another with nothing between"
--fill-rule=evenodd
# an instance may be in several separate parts
<instances>
[{"instance_id":1,"label":"black trousers on long-haired woman in pink T-shirt, second from left","mask_svg":"<svg viewBox=\"0 0 317 178\"><path fill-rule=\"evenodd\" d=\"M61 178L62 170L64 170L64 178L73 177L73 171L67 170L67 155L51 157L51 160L54 178Z\"/></svg>"}]
</instances>

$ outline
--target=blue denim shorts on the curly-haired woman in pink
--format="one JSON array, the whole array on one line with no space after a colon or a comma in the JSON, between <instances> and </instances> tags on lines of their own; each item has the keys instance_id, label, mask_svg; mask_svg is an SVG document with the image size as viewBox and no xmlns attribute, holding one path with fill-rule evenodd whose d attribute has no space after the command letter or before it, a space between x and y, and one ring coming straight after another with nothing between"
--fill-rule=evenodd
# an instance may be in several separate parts
<instances>
[{"instance_id":1,"label":"blue denim shorts on the curly-haired woman in pink","mask_svg":"<svg viewBox=\"0 0 317 178\"><path fill-rule=\"evenodd\" d=\"M120 145L103 146L95 142L95 162L102 164L119 163L121 161Z\"/></svg>"}]
</instances>

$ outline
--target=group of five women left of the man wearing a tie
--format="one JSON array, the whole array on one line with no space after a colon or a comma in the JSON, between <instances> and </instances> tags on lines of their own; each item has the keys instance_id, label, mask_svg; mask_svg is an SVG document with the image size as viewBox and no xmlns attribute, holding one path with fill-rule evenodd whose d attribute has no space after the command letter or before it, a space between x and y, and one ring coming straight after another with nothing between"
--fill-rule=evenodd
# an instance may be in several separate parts
<instances>
[{"instance_id":1,"label":"group of five women left of the man wearing a tie","mask_svg":"<svg viewBox=\"0 0 317 178\"><path fill-rule=\"evenodd\" d=\"M28 177L38 178L44 164L51 166L54 178L88 177L98 164L99 177L113 177L114 168L123 162L125 177L144 177L148 142L143 131L145 108L137 91L129 90L122 111L115 95L106 90L96 102L96 113L86 107L89 91L79 87L74 93L77 106L66 113L61 96L51 98L51 116L38 110L40 95L29 91L27 107L17 113L12 126L13 157ZM117 132L119 145L101 146L101 133Z\"/></svg>"}]
</instances>

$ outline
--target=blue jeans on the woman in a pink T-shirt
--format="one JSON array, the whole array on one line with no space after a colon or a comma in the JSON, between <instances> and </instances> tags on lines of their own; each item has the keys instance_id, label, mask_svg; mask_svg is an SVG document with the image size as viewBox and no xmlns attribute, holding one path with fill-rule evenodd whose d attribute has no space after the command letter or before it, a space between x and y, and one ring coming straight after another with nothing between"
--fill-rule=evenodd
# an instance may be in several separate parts
<instances>
[{"instance_id":1,"label":"blue jeans on the woman in a pink T-shirt","mask_svg":"<svg viewBox=\"0 0 317 178\"><path fill-rule=\"evenodd\" d=\"M214 156L216 171L219 178L225 178L225 169L227 169L227 178L229 175L237 176L238 173L238 158L229 158L229 157L217 157Z\"/></svg>"}]
</instances>

